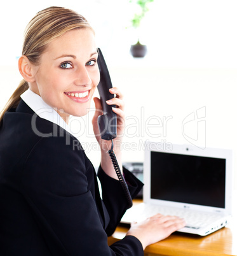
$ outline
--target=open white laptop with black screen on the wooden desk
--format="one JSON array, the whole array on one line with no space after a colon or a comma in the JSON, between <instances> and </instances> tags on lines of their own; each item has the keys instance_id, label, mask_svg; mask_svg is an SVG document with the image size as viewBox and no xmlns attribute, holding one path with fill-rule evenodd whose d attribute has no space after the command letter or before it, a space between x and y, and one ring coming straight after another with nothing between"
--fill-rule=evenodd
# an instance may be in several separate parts
<instances>
[{"instance_id":1,"label":"open white laptop with black screen on the wooden desk","mask_svg":"<svg viewBox=\"0 0 237 256\"><path fill-rule=\"evenodd\" d=\"M206 236L231 218L232 150L149 142L144 159L143 202L121 223L161 213L186 220L180 232Z\"/></svg>"}]
</instances>

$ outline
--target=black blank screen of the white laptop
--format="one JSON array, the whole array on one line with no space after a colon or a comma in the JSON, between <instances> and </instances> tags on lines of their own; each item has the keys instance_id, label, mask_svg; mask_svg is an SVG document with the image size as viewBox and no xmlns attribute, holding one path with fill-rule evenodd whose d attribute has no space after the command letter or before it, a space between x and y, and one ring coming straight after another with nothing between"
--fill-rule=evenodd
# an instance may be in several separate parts
<instances>
[{"instance_id":1,"label":"black blank screen of the white laptop","mask_svg":"<svg viewBox=\"0 0 237 256\"><path fill-rule=\"evenodd\" d=\"M151 198L225 207L226 159L151 151Z\"/></svg>"}]
</instances>

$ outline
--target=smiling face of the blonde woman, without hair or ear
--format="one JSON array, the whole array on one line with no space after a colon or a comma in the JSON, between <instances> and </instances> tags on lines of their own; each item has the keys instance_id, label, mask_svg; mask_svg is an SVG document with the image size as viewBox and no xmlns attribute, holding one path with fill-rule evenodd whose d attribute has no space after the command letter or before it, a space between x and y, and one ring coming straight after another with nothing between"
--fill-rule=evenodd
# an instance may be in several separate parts
<instances>
[{"instance_id":1,"label":"smiling face of the blonde woman, without hair or ear","mask_svg":"<svg viewBox=\"0 0 237 256\"><path fill-rule=\"evenodd\" d=\"M97 57L91 29L65 32L46 47L30 88L64 120L69 115L86 115L100 80Z\"/></svg>"}]
</instances>

